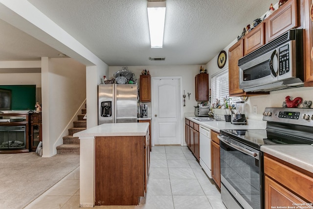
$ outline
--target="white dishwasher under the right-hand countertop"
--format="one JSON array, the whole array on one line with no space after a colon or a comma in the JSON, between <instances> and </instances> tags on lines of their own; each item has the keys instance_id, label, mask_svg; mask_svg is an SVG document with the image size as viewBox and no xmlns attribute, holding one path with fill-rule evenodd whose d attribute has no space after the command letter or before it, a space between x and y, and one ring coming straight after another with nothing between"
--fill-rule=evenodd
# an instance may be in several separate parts
<instances>
[{"instance_id":1,"label":"white dishwasher under the right-hand countertop","mask_svg":"<svg viewBox=\"0 0 313 209\"><path fill-rule=\"evenodd\" d=\"M200 165L212 179L211 174L211 129L200 125Z\"/></svg>"}]
</instances>

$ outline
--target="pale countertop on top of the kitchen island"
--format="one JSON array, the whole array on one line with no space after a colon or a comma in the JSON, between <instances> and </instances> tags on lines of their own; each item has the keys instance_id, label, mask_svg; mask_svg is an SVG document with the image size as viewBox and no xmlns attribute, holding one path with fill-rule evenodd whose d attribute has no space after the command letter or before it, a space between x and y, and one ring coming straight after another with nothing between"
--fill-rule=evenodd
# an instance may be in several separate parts
<instances>
[{"instance_id":1,"label":"pale countertop on top of the kitchen island","mask_svg":"<svg viewBox=\"0 0 313 209\"><path fill-rule=\"evenodd\" d=\"M73 134L74 137L145 136L149 123L105 123Z\"/></svg>"}]
</instances>

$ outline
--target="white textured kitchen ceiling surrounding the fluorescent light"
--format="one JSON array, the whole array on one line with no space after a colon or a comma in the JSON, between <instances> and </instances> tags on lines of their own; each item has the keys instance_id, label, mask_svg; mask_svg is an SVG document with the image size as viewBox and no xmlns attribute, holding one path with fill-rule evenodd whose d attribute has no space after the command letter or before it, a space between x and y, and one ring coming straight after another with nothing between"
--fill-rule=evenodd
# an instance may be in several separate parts
<instances>
[{"instance_id":1,"label":"white textured kitchen ceiling surrounding the fluorescent light","mask_svg":"<svg viewBox=\"0 0 313 209\"><path fill-rule=\"evenodd\" d=\"M236 39L247 24L266 13L272 3L271 0L166 0L163 48L150 48L147 0L28 1L109 66L206 64ZM12 27L11 30L19 33ZM15 46L16 51L13 47L3 57L0 51L0 60L41 57L40 51L27 46L37 46L34 38L27 34L17 38L22 39L17 44L25 47ZM1 39L0 44L5 46ZM31 53L23 54L27 47ZM149 57L165 57L165 61L150 61Z\"/></svg>"}]
</instances>

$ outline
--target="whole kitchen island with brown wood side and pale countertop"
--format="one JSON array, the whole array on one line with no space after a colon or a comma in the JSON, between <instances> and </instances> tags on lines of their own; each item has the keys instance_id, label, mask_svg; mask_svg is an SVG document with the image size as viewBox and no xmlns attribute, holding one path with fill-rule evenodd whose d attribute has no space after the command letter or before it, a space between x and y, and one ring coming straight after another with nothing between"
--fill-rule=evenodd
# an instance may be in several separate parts
<instances>
[{"instance_id":1,"label":"whole kitchen island with brown wood side and pale countertop","mask_svg":"<svg viewBox=\"0 0 313 209\"><path fill-rule=\"evenodd\" d=\"M149 123L108 123L80 139L80 206L138 205L149 166Z\"/></svg>"}]
</instances>

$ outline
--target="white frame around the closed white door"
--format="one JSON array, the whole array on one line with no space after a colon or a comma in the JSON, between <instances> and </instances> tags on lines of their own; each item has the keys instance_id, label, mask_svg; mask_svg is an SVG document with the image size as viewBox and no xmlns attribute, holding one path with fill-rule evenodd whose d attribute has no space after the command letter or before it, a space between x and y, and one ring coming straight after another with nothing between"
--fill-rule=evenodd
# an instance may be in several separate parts
<instances>
[{"instance_id":1,"label":"white frame around the closed white door","mask_svg":"<svg viewBox=\"0 0 313 209\"><path fill-rule=\"evenodd\" d=\"M153 118L154 118L154 116L155 116L155 113L154 113L154 102L153 102L153 84L154 84L154 82L155 82L155 80L160 80L160 79L178 79L179 80L179 96L180 96L180 98L182 98L182 76L153 76L153 77L151 77L151 80L152 80L152 82L151 82L151 86L152 86L152 88L151 88L151 121L153 121ZM181 136L181 139L180 139L180 146L183 146L183 131L182 131L182 126L183 126L183 124L185 124L185 123L183 123L183 120L184 120L184 117L183 117L183 108L182 108L182 99L181 100L179 100L178 101L179 102L179 105L180 105L180 123L181 123L181 125L179 126L179 132L180 132L180 136ZM153 127L153 125L152 125L152 127ZM155 145L155 140L154 139L156 139L156 136L155 136L155 133L154 133L154 131L153 131L153 129L151 129L151 132L152 132L152 146L154 146Z\"/></svg>"}]
</instances>

